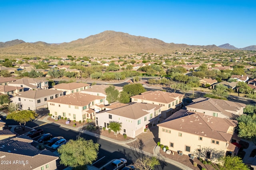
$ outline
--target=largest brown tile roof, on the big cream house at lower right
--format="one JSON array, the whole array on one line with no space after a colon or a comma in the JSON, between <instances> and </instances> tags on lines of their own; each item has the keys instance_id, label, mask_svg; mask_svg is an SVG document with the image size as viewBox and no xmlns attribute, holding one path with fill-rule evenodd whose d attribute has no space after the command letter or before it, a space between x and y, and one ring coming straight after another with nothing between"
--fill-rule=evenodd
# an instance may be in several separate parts
<instances>
[{"instance_id":1,"label":"largest brown tile roof, on the big cream house at lower right","mask_svg":"<svg viewBox=\"0 0 256 170\"><path fill-rule=\"evenodd\" d=\"M191 133L225 142L229 142L232 138L232 134L227 133L229 127L236 127L236 125L236 120L211 117L203 113L192 113L191 115L158 124L159 127L175 129L180 132Z\"/></svg>"}]
</instances>

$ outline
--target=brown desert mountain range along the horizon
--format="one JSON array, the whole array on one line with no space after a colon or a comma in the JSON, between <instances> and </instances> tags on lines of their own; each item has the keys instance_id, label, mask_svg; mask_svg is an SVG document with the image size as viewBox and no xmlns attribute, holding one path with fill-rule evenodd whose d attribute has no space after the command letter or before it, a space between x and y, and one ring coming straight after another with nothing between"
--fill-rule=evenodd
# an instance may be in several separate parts
<instances>
[{"instance_id":1,"label":"brown desert mountain range along the horizon","mask_svg":"<svg viewBox=\"0 0 256 170\"><path fill-rule=\"evenodd\" d=\"M165 43L159 39L134 36L123 32L104 31L69 43L50 44L42 41L26 43L18 39L5 43L0 42L0 57L63 57L67 55L76 57L110 57L134 53L168 54L175 50L187 48L237 49L229 44L217 47L216 45L200 46ZM256 46L245 47L241 50L256 50Z\"/></svg>"}]
</instances>

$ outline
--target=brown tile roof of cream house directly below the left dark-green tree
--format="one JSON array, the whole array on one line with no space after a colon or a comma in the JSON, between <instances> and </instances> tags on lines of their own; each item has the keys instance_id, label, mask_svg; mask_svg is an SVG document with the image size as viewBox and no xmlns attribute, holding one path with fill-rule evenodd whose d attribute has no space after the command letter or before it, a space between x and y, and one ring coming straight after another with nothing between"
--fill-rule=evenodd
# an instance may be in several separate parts
<instances>
[{"instance_id":1,"label":"brown tile roof of cream house directly below the left dark-green tree","mask_svg":"<svg viewBox=\"0 0 256 170\"><path fill-rule=\"evenodd\" d=\"M48 100L48 102L58 103L58 104L69 104L74 106L86 106L94 100L104 99L103 96L94 96L84 93L72 93L59 98Z\"/></svg>"}]
</instances>

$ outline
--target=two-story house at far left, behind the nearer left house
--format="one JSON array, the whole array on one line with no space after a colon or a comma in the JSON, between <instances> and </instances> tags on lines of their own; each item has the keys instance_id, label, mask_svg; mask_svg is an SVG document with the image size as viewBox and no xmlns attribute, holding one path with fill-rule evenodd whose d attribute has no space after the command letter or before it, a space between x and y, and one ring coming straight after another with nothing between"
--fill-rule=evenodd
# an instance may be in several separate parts
<instances>
[{"instance_id":1,"label":"two-story house at far left, behind the nearer left house","mask_svg":"<svg viewBox=\"0 0 256 170\"><path fill-rule=\"evenodd\" d=\"M48 80L40 80L37 78L22 78L14 82L7 83L8 86L24 87L24 91L48 89Z\"/></svg>"}]
</instances>

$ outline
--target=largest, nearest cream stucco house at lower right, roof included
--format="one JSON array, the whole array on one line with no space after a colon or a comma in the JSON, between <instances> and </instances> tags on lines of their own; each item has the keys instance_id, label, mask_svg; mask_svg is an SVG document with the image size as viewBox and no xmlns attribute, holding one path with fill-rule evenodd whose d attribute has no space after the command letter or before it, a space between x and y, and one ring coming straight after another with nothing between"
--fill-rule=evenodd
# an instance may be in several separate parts
<instances>
[{"instance_id":1,"label":"largest, nearest cream stucco house at lower right, roof included","mask_svg":"<svg viewBox=\"0 0 256 170\"><path fill-rule=\"evenodd\" d=\"M206 160L238 154L236 120L207 116L203 113L174 113L168 121L158 124L158 137L169 150L186 155L194 154Z\"/></svg>"}]
</instances>

